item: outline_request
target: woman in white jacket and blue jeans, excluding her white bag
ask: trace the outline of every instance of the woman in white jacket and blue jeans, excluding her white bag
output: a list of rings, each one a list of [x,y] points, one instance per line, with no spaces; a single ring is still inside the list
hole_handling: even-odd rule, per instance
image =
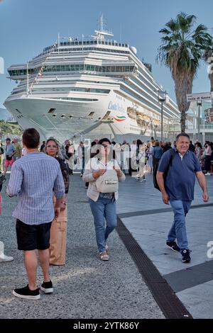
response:
[[[94,216],[94,227],[101,260],[108,261],[107,238],[116,227],[116,200],[118,192],[101,193],[97,189],[96,181],[99,176],[104,175],[109,170],[115,170],[119,181],[126,179],[119,164],[113,158],[113,149],[109,139],[99,140],[97,144],[97,154],[87,162],[83,181],[89,182],[87,196]],[[107,226],[105,226],[105,219]]]

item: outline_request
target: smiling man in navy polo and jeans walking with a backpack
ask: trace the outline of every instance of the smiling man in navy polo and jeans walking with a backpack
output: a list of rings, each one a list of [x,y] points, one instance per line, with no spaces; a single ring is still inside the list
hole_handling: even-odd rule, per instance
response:
[[[173,251],[181,252],[182,262],[189,263],[191,257],[185,216],[190,210],[192,200],[194,200],[195,176],[202,188],[204,202],[209,200],[209,195],[200,162],[195,154],[189,150],[189,135],[180,133],[177,136],[176,145],[173,154],[168,150],[161,157],[156,179],[162,193],[163,203],[166,205],[170,203],[174,212],[174,222],[168,233],[166,245]],[[163,176],[165,173],[167,173],[166,179]],[[175,239],[177,239],[178,244]]]

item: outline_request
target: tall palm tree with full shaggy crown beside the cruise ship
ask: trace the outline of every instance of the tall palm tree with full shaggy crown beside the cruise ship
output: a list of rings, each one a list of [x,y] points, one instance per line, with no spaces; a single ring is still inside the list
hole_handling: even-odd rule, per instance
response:
[[[194,28],[196,19],[195,15],[181,12],[159,31],[163,34],[160,38],[163,43],[158,48],[157,61],[170,68],[175,81],[181,132],[185,132],[186,112],[190,107],[186,95],[192,93],[192,81],[212,41],[206,26],[200,24]]]

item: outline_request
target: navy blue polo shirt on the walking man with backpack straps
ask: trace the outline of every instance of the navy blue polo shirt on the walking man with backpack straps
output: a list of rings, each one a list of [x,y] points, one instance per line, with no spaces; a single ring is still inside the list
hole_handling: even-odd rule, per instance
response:
[[[170,150],[161,157],[158,171],[165,172],[169,162]],[[195,154],[188,150],[181,159],[178,150],[175,149],[173,164],[165,179],[165,191],[168,193],[170,201],[194,200],[195,173],[197,171],[201,171],[201,166]]]

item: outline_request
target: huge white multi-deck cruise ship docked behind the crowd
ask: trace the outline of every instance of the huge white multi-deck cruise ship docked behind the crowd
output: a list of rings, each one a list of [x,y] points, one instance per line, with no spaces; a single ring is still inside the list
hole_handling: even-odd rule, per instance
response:
[[[61,38],[26,64],[9,67],[17,86],[4,102],[23,129],[60,142],[77,135],[160,137],[162,91],[136,47],[113,40],[103,17],[93,36]],[[179,118],[163,103],[163,126]]]

